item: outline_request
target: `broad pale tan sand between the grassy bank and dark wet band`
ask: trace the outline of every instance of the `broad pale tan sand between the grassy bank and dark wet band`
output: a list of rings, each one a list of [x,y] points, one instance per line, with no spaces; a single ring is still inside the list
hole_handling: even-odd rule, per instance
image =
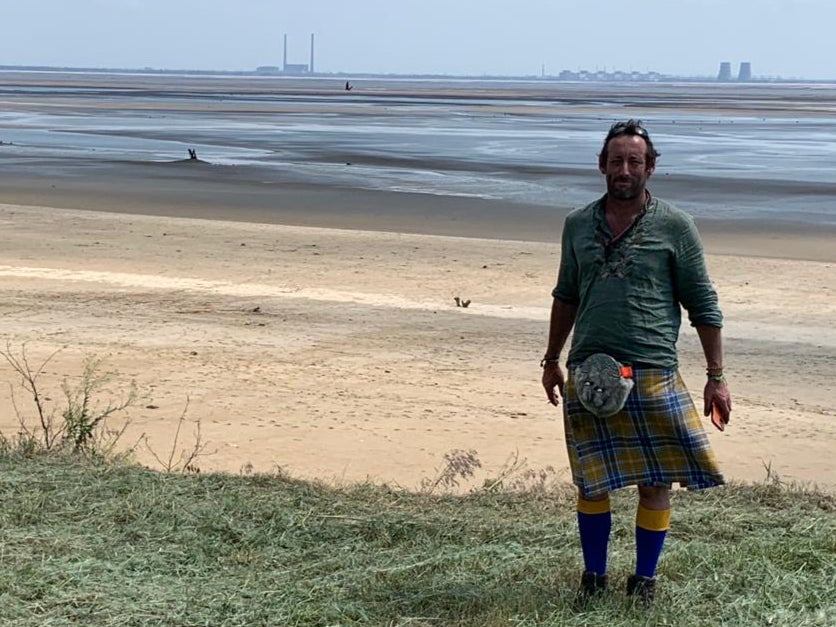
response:
[[[161,211],[151,192],[147,205],[132,196],[128,210],[106,193],[69,203],[45,194],[43,206],[6,193],[0,312],[8,350],[25,345],[33,365],[54,354],[38,382],[47,406],[60,413],[62,382],[76,385],[94,355],[114,373],[101,405],[132,380],[141,390],[110,426],[126,424],[120,445],[151,467],[160,467],[153,453],[168,458],[185,412],[175,459],[199,421],[202,472],[281,468],[415,489],[462,449],[482,463],[469,485],[510,456],[568,480],[560,410],[546,402],[538,367],[557,237],[503,239],[508,231],[490,236],[490,222],[481,238],[460,237],[443,220],[435,232],[414,216],[402,231],[396,222],[380,230],[375,216],[393,201],[385,194],[377,205],[341,190],[288,194],[346,211],[315,214],[329,228],[266,224],[257,208],[227,208],[249,221]],[[734,399],[726,432],[706,426],[727,477],[760,481],[769,468],[836,489],[832,239],[801,227],[704,227]],[[680,352],[699,398],[703,359],[687,327]],[[20,417],[34,424],[4,362],[0,380],[9,384],[0,429],[13,433]]]

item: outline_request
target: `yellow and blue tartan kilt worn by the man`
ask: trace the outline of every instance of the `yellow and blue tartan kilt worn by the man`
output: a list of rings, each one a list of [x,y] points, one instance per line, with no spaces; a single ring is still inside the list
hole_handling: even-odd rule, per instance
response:
[[[703,489],[725,483],[685,382],[675,369],[633,369],[620,412],[598,418],[581,405],[568,368],[563,424],[572,480],[586,496],[628,485]]]

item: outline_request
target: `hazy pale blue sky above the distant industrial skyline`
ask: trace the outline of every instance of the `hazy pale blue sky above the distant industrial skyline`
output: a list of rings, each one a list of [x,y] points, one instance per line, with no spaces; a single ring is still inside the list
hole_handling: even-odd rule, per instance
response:
[[[0,65],[836,78],[834,0],[0,0]]]

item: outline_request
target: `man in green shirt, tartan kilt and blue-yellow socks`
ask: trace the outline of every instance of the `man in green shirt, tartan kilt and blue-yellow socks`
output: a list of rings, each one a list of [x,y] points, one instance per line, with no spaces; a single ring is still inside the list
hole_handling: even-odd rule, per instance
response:
[[[693,220],[646,189],[658,156],[640,121],[610,128],[598,158],[607,193],[567,216],[552,292],[543,387],[553,405],[555,388],[565,401],[566,445],[578,486],[584,603],[607,586],[611,491],[638,486],[636,570],[627,593],[649,604],[670,523],[671,484],[701,489],[723,483],[676,354],[681,305],[705,354],[704,412],[714,411],[722,429],[731,412],[723,378],[723,318]],[[561,353],[573,327],[566,378]],[[613,358],[619,376],[633,385],[623,407],[608,417],[590,411],[580,393],[589,390],[575,386],[576,374],[583,372],[578,365],[601,353]],[[595,390],[606,393],[604,388]]]

